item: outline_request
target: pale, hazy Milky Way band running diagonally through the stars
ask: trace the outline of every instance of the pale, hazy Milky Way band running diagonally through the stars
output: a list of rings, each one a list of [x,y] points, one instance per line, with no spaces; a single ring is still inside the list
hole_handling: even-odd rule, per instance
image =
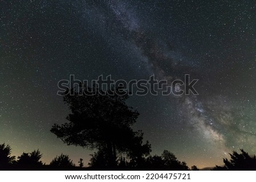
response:
[[[180,77],[184,73],[200,78],[200,84],[216,82],[221,79],[214,78],[214,80],[211,80],[212,78],[209,78],[205,80],[205,75],[200,75],[201,68],[198,69],[198,67],[185,62],[188,58],[176,56],[179,54],[168,47],[168,40],[158,40],[147,35],[143,28],[139,26],[138,18],[131,14],[128,5],[120,4],[110,5],[110,7],[117,20],[131,34],[131,41],[134,46],[141,50],[141,54],[146,58],[152,73],[157,75],[159,79],[167,79],[171,82],[174,79],[181,79]],[[206,84],[205,87],[209,87],[208,92],[210,92],[210,86]],[[253,118],[243,117],[242,111],[233,107],[232,103],[226,103],[225,97],[226,95],[221,95],[220,92],[213,92],[210,96],[202,97],[183,96],[183,98],[179,98],[177,108],[180,109],[185,122],[188,122],[188,126],[192,126],[195,130],[195,134],[201,135],[203,140],[209,143],[211,150],[226,154],[234,148],[237,149],[238,146],[240,148],[245,147],[243,146],[244,142],[250,143],[255,149]],[[249,124],[248,122],[251,128],[246,127]],[[229,142],[230,140],[232,140],[232,143]]]

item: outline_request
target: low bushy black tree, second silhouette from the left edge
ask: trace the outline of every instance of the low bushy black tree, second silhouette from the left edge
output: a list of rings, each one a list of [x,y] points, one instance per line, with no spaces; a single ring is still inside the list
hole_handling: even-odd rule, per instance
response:
[[[34,150],[31,153],[22,153],[22,155],[18,156],[17,164],[24,169],[42,167],[43,163],[40,161],[42,155],[39,150]]]

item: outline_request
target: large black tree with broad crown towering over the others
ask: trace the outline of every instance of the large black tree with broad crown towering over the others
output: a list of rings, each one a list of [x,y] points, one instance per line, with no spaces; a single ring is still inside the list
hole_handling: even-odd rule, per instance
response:
[[[107,92],[95,86],[81,87],[72,88],[73,94],[65,93],[64,102],[71,109],[69,122],[53,125],[52,133],[67,145],[97,149],[106,167],[117,165],[118,153],[134,160],[150,153],[150,144],[142,143],[143,133],[131,128],[139,113],[126,105],[126,92],[119,87]]]

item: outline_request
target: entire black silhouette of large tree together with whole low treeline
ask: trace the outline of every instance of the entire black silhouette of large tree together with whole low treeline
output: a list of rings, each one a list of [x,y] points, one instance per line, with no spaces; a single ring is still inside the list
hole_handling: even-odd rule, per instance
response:
[[[199,170],[196,166],[189,168],[168,150],[162,155],[150,154],[151,145],[143,142],[142,130],[132,128],[139,113],[126,105],[129,94],[122,87],[103,91],[96,86],[79,85],[67,90],[63,98],[71,110],[68,122],[54,124],[51,132],[67,145],[94,150],[88,166],[84,166],[83,159],[76,166],[62,153],[45,164],[40,160],[43,154],[39,149],[16,158],[11,155],[11,147],[2,143],[0,170]],[[250,156],[244,150],[241,154],[233,151],[230,160],[223,161],[223,166],[212,170],[256,170],[255,155]]]

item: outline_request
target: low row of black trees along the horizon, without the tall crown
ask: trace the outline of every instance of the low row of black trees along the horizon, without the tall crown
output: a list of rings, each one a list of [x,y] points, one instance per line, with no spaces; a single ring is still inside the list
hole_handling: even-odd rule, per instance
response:
[[[11,147],[5,143],[0,145],[0,170],[199,170],[196,166],[189,168],[187,163],[180,162],[176,156],[168,150],[164,150],[162,155],[147,156],[135,162],[120,156],[114,168],[109,168],[108,161],[104,153],[94,153],[84,167],[83,159],[79,160],[79,165],[69,158],[68,155],[61,154],[52,159],[49,164],[43,163],[42,154],[39,150],[31,153],[22,153],[17,158],[11,155]],[[223,159],[224,166],[216,166],[212,170],[256,170],[256,157],[250,156],[244,150],[238,154],[233,151],[230,160]]]

